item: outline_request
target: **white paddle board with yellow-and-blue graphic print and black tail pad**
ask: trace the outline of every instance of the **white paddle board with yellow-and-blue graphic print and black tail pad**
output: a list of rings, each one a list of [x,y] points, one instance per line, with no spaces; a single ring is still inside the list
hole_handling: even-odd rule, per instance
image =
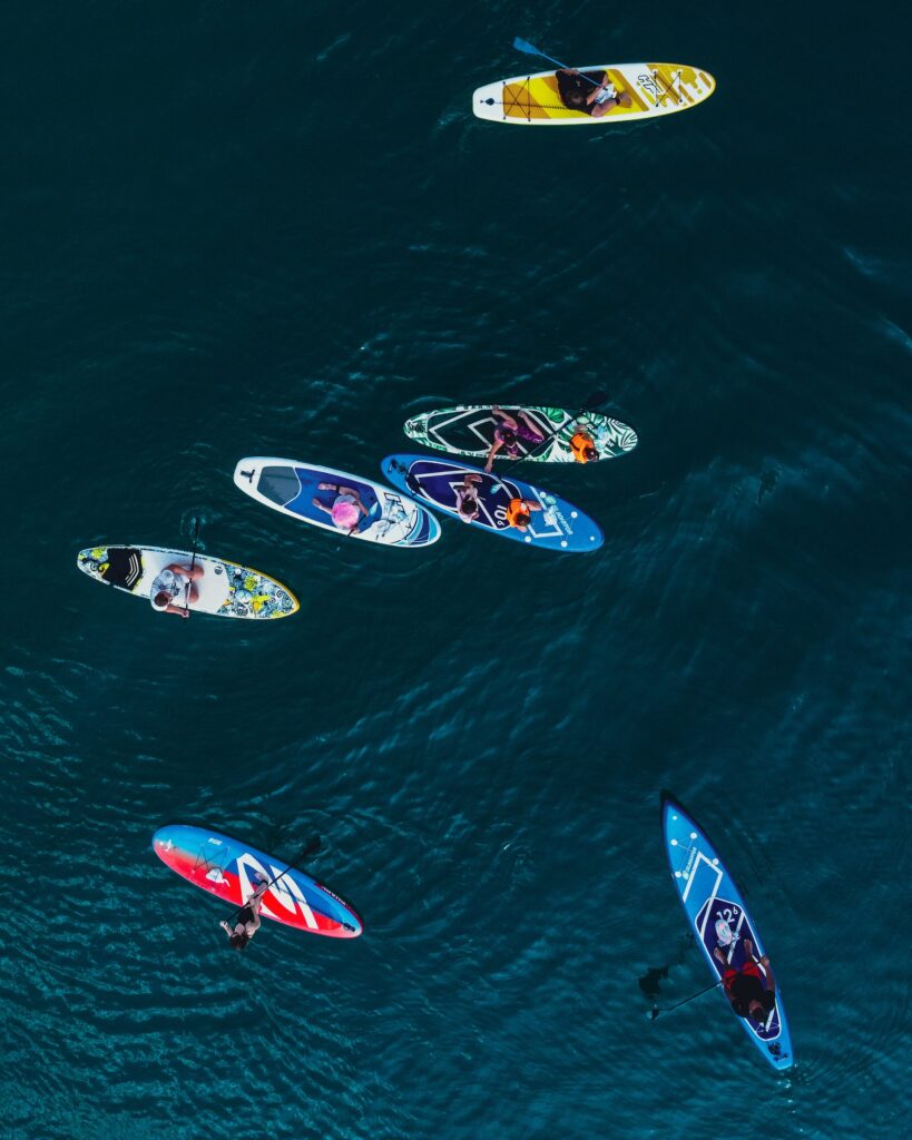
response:
[[[188,551],[171,551],[163,546],[92,546],[80,551],[76,565],[96,581],[148,600],[152,584],[165,567],[189,568]],[[236,562],[196,555],[203,576],[195,581],[199,597],[189,603],[192,612],[214,613],[220,618],[287,618],[298,612],[298,598],[275,578],[250,570]],[[178,595],[176,605],[184,605]]]

